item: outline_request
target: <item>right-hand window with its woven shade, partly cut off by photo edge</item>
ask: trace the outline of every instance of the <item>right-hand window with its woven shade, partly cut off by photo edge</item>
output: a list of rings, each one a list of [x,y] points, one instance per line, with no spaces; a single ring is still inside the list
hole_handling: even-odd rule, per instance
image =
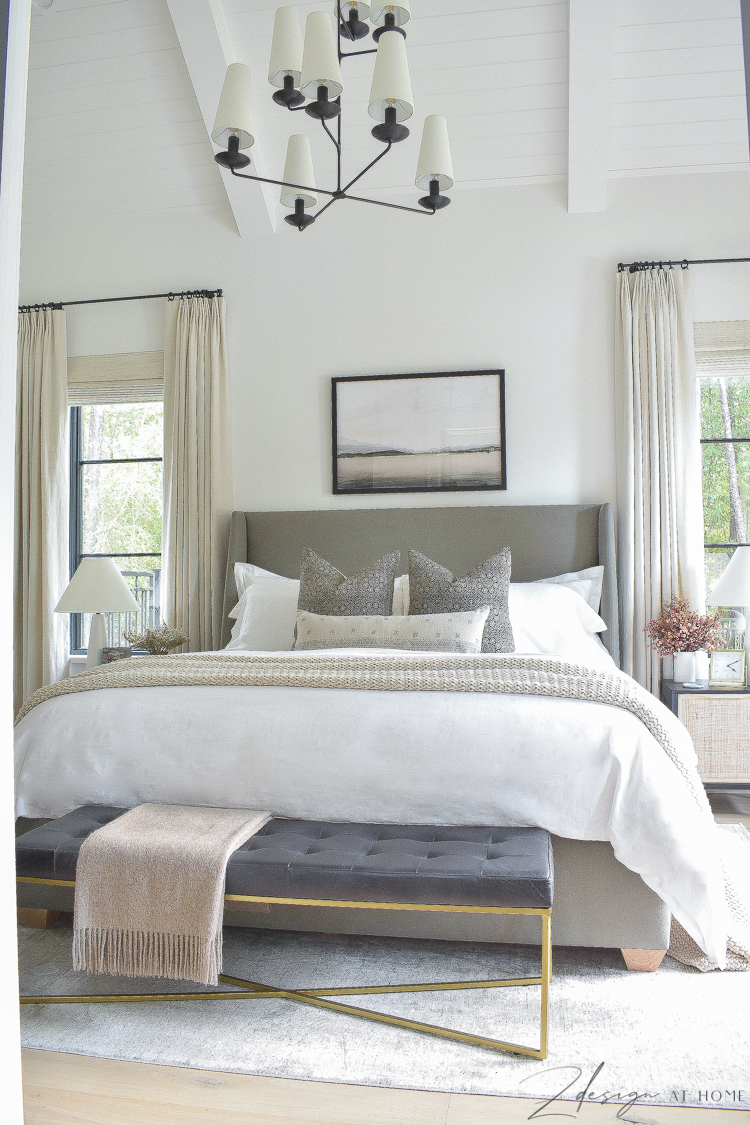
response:
[[[750,322],[695,325],[706,590],[750,542]]]

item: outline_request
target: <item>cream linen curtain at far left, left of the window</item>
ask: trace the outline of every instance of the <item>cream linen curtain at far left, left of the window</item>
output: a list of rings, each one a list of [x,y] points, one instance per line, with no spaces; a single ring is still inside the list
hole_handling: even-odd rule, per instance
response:
[[[70,579],[65,313],[18,318],[16,429],[15,705],[65,672],[66,613],[55,613]]]

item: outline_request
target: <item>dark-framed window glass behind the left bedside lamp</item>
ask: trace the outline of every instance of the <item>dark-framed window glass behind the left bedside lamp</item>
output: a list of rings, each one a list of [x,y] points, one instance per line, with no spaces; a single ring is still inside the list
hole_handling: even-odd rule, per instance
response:
[[[161,402],[71,407],[71,575],[82,558],[114,558],[137,613],[107,615],[109,645],[157,624],[162,554]],[[71,651],[88,644],[90,614],[71,614]]]

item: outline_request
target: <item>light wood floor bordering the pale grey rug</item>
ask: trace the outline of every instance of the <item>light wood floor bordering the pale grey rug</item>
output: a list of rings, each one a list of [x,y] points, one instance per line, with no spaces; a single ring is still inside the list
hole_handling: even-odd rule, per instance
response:
[[[750,796],[712,796],[720,824],[750,829]],[[744,1091],[746,1104],[750,1089]],[[26,1125],[521,1125],[540,1107],[495,1098],[370,1086],[299,1082],[253,1074],[116,1062],[24,1051]],[[750,1125],[747,1109],[551,1105],[542,1115],[580,1125]]]

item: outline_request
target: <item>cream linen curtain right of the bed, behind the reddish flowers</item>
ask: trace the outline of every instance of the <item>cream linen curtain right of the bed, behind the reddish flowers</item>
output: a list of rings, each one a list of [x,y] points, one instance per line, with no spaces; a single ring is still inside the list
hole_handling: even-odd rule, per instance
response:
[[[705,606],[701,420],[687,270],[617,274],[622,667],[654,693],[643,627],[671,597]]]

